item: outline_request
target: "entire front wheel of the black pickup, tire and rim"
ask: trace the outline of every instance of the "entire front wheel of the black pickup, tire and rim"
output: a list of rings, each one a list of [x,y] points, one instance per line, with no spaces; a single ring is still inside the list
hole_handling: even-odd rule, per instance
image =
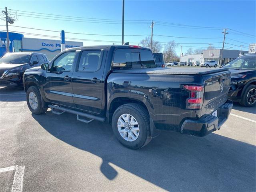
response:
[[[33,114],[43,114],[47,111],[47,108],[43,108],[41,101],[41,94],[37,86],[31,86],[26,92],[26,100],[29,110]]]

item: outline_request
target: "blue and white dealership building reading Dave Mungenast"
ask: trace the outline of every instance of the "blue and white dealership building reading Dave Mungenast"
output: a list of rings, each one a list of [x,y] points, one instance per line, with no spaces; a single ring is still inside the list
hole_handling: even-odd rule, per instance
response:
[[[6,53],[6,32],[0,31],[0,56]],[[24,38],[23,34],[9,32],[10,52],[39,52],[52,60],[60,53],[61,40]],[[65,48],[80,47],[83,42],[65,41]]]

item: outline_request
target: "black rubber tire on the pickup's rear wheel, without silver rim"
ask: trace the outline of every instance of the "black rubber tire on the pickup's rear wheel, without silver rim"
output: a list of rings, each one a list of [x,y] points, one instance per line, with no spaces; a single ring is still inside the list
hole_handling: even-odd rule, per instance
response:
[[[132,115],[138,122],[139,135],[134,141],[125,140],[118,131],[118,119],[123,114]],[[139,104],[129,103],[124,104],[116,109],[112,117],[112,129],[117,140],[124,146],[130,149],[139,149],[146,146],[152,139],[150,135],[150,123],[146,109]]]

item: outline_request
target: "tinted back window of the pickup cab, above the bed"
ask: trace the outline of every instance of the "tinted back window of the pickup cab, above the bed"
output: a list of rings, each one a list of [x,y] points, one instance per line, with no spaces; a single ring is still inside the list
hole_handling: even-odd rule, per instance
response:
[[[112,63],[113,70],[154,67],[156,64],[152,52],[138,49],[117,49]]]

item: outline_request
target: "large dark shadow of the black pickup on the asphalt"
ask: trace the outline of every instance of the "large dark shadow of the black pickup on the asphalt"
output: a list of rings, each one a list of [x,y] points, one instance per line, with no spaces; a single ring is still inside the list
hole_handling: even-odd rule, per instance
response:
[[[109,180],[118,175],[115,164],[168,191],[256,190],[251,144],[218,134],[198,138],[162,132],[144,148],[130,150],[119,144],[108,124],[83,124],[75,115],[50,111],[32,116],[54,137],[102,158],[100,170]]]

